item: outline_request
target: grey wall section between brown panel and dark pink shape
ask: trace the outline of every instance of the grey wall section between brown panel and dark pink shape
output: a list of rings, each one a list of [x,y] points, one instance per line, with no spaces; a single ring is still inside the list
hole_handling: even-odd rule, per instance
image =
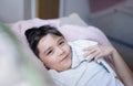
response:
[[[89,0],[60,0],[60,17],[76,12],[86,23],[89,23]]]

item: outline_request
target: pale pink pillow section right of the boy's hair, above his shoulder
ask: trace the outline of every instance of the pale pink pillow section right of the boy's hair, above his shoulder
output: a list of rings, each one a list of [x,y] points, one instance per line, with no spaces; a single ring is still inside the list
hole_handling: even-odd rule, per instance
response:
[[[68,41],[88,39],[88,40],[96,41],[101,44],[110,44],[104,33],[98,28],[92,25],[79,26],[79,25],[63,24],[60,25],[58,29],[62,34],[64,34]]]

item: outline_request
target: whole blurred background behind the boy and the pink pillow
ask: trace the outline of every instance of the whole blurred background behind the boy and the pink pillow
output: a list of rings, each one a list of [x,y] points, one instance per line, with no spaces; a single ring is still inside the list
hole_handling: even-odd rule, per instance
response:
[[[0,0],[0,18],[6,23],[73,12],[102,30],[133,71],[133,0]]]

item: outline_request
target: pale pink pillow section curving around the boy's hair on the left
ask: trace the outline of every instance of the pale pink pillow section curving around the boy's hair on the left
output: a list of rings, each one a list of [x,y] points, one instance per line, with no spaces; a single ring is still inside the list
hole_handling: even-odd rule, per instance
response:
[[[41,20],[41,19],[32,19],[32,20],[23,20],[23,21],[18,21],[16,23],[10,24],[11,30],[13,31],[13,33],[17,35],[17,37],[19,39],[19,41],[24,44],[28,45],[24,32],[25,30],[33,28],[33,26],[41,26],[44,24],[50,24],[53,26],[58,26],[60,25],[60,21],[58,19],[54,20]]]

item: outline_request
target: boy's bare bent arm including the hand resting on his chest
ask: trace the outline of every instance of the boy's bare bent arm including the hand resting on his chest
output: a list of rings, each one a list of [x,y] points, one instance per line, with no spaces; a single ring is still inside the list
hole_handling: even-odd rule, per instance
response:
[[[84,51],[84,56],[89,61],[96,61],[101,57],[106,57],[111,55],[114,71],[116,72],[119,78],[124,83],[125,86],[133,86],[133,74],[131,69],[112,45],[94,45],[85,47]]]

